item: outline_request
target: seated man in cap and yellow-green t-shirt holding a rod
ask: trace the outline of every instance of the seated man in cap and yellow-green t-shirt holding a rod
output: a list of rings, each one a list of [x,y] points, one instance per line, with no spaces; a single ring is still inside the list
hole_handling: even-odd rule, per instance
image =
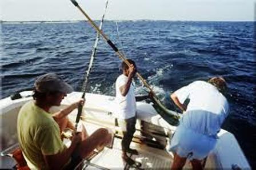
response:
[[[66,148],[61,129],[70,126],[66,116],[84,101],[79,100],[52,115],[50,108],[60,106],[72,91],[71,86],[56,74],[39,76],[34,85],[34,101],[21,108],[17,123],[19,145],[30,169],[73,169],[95,148],[111,142],[107,129],[100,128],[88,137],[83,127],[82,133],[73,134],[71,145]]]

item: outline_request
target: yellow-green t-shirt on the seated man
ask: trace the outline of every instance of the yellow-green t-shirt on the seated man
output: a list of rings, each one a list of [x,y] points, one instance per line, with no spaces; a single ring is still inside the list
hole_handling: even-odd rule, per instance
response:
[[[43,155],[55,155],[66,148],[58,124],[34,101],[19,111],[17,132],[23,154],[38,169],[47,169]]]

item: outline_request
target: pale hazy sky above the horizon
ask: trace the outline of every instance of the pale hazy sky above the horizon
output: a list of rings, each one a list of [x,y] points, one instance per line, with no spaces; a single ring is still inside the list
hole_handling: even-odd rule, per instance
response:
[[[77,0],[93,19],[106,0]],[[108,20],[255,21],[256,0],[109,0]],[[2,21],[67,21],[85,17],[69,0],[0,0]]]

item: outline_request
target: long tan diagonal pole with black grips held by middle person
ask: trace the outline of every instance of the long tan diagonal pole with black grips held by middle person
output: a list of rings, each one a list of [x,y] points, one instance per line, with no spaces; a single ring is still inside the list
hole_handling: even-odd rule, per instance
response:
[[[120,59],[122,59],[127,66],[131,66],[131,64],[127,61],[126,57],[122,54],[122,52],[120,52],[118,50],[118,48],[115,46],[115,44],[113,42],[110,41],[110,39],[107,37],[106,34],[103,33],[103,31],[101,29],[99,29],[99,27],[95,24],[95,22],[89,17],[89,15],[87,15],[85,13],[85,11],[78,5],[77,1],[75,0],[70,0],[73,5],[75,7],[77,7],[79,9],[79,11],[81,11],[81,13],[83,15],[85,15],[85,17],[88,19],[88,22],[90,23],[90,25],[98,32],[98,34],[101,34],[103,39],[109,44],[109,46],[115,51],[115,53],[119,56]],[[152,99],[153,99],[153,103],[156,104],[157,106],[159,106],[160,110],[159,111],[163,111],[165,113],[163,113],[162,111],[158,114],[160,114],[162,116],[162,118],[164,118],[168,123],[173,124],[173,125],[177,125],[178,123],[178,119],[179,119],[179,115],[177,112],[174,111],[170,111],[168,110],[165,106],[163,106],[163,104],[160,102],[160,100],[157,98],[157,96],[155,95],[153,89],[149,86],[149,84],[146,82],[145,79],[142,78],[142,76],[136,72],[137,76],[139,79],[141,79],[142,83],[144,84],[145,87],[147,87],[150,92],[152,93]],[[170,116],[171,118],[174,118],[175,120],[170,120],[168,118],[168,116]]]

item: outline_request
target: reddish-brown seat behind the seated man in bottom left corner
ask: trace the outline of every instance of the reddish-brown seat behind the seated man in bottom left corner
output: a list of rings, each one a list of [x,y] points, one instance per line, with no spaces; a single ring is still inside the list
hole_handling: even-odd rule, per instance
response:
[[[14,168],[19,170],[29,170],[30,168],[27,166],[27,162],[22,155],[22,151],[19,148],[18,144],[14,144],[11,147],[5,149],[5,151],[1,152],[1,156],[8,156],[15,160],[17,163]]]

